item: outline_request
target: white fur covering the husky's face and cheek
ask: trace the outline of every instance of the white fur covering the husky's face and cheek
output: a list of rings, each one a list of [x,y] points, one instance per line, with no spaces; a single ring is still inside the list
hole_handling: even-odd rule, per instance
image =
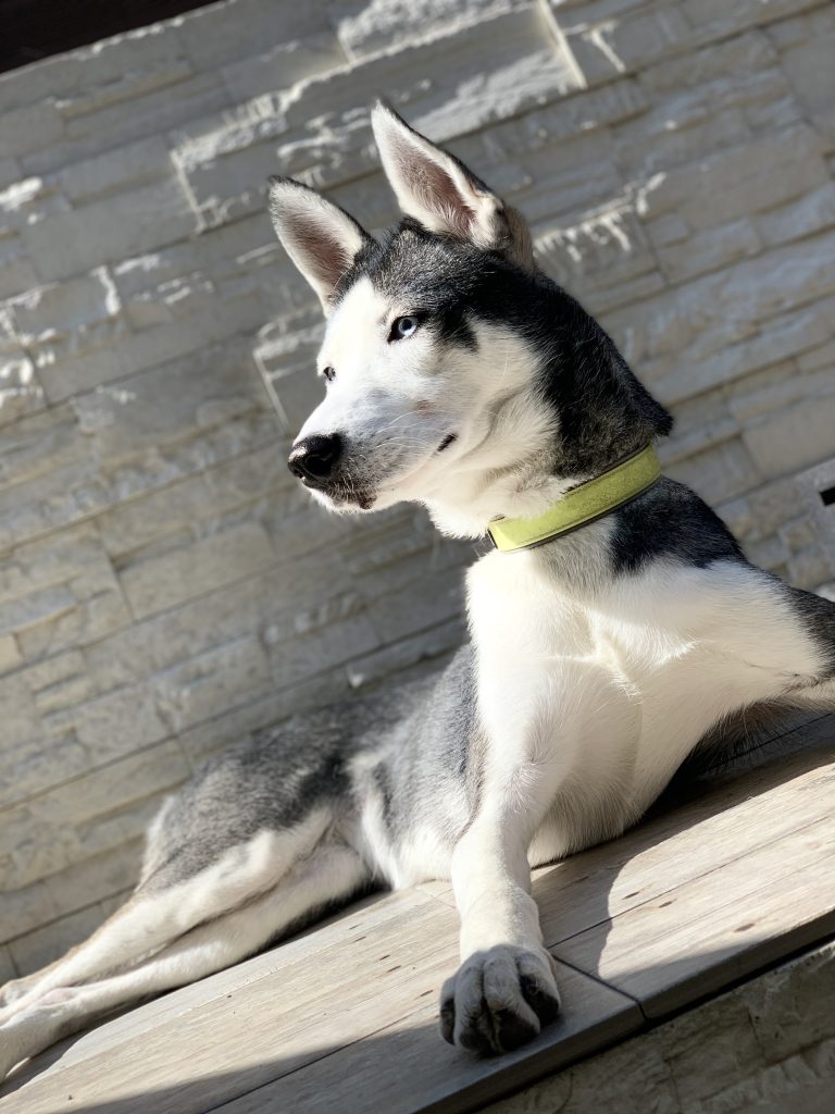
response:
[[[446,532],[472,537],[511,506],[536,514],[569,481],[541,473],[558,418],[532,382],[530,344],[488,321],[472,323],[472,348],[431,326],[390,343],[391,322],[414,309],[360,278],[331,317],[320,362],[335,378],[298,439],[337,431],[348,456],[335,489],[314,496],[335,509],[424,502]]]

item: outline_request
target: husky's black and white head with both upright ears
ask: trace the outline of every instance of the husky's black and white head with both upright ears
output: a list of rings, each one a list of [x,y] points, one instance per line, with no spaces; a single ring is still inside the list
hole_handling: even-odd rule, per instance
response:
[[[289,467],[332,509],[416,500],[450,531],[478,534],[505,512],[494,500],[473,506],[495,480],[512,494],[539,482],[531,461],[540,478],[569,477],[608,451],[599,420],[578,427],[569,348],[586,346],[581,364],[600,348],[642,389],[593,320],[537,271],[515,211],[386,106],[372,124],[405,214],[383,242],[315,190],[271,182],[278,237],[327,322],[325,398]]]

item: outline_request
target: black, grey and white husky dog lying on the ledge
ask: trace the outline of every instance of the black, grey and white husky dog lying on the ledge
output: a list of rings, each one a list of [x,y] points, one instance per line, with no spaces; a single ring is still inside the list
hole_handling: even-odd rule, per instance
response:
[[[518,213],[386,106],[373,126],[404,213],[382,242],[271,184],[327,319],[325,398],[289,467],[332,510],[412,500],[444,534],[524,532],[671,419],[537,268]],[[740,710],[832,704],[835,606],[749,565],[664,477],[534,540],[470,569],[472,642],[440,680],[299,716],[170,798],[124,908],[7,987],[0,1073],[371,883],[432,878],[452,880],[461,917],[443,1036],[491,1053],[539,1033],[559,995],[531,866],[633,824]]]

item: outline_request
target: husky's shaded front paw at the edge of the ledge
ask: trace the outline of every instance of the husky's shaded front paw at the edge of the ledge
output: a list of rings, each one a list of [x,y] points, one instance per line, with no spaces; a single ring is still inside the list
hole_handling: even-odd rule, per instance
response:
[[[483,1056],[512,1052],[559,1010],[553,961],[544,948],[500,945],[470,956],[444,983],[441,1035]]]

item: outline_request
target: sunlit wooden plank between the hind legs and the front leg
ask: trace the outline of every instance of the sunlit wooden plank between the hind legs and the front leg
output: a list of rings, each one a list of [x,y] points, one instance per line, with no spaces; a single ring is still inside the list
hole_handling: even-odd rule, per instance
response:
[[[424,901],[374,928],[357,924],[343,946],[289,961],[276,949],[275,969],[237,993],[213,994],[136,1038],[36,1076],[18,1092],[27,1114],[53,1114],[67,1094],[76,1108],[199,1114],[434,1005],[456,962],[458,922],[452,909]],[[151,1079],[153,1102],[140,1107]]]

